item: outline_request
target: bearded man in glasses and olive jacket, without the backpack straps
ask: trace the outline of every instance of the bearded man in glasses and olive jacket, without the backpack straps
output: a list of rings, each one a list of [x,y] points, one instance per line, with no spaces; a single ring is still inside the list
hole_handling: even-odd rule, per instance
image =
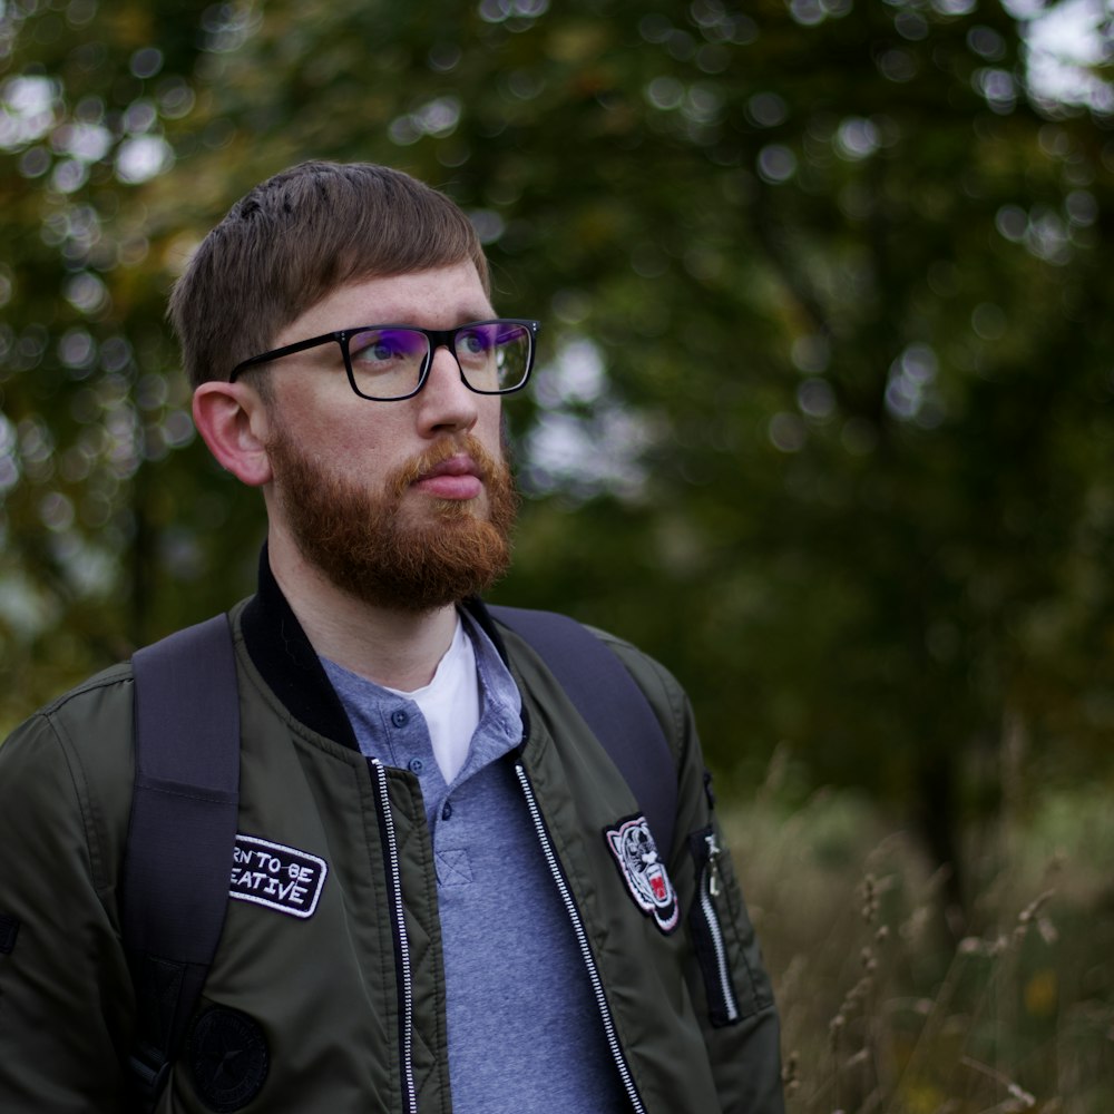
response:
[[[538,326],[496,317],[468,219],[383,167],[296,166],[208,235],[172,317],[197,428],[262,489],[268,535],[231,613],[232,900],[158,1108],[780,1111],[776,1016],[684,694],[607,639],[675,759],[658,850],[568,694],[479,602],[515,511],[500,395]],[[131,709],[119,666],[0,747],[6,1114],[124,1102]],[[267,871],[291,864],[284,897]]]

